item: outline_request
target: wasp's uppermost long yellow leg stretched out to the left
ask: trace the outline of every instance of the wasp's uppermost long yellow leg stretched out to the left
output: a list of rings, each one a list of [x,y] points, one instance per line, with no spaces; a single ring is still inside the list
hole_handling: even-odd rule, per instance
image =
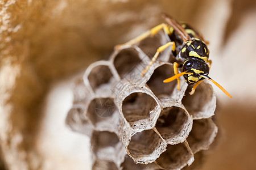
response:
[[[168,35],[171,34],[170,29],[168,28],[168,26],[166,24],[164,24],[164,23],[159,24],[159,25],[155,26],[154,28],[150,29],[150,31],[144,32],[142,35],[139,35],[138,37],[135,37],[134,39],[131,39],[130,41],[126,42],[125,44],[115,45],[115,49],[121,48],[121,46],[124,46],[124,45],[134,45],[137,42],[140,42],[143,39],[146,39],[146,37],[148,37],[150,35],[154,36],[161,29],[164,29],[164,31],[166,31],[168,33]]]

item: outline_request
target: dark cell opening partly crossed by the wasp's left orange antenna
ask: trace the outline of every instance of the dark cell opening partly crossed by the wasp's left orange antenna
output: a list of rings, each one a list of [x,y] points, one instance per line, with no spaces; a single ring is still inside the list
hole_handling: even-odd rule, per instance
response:
[[[177,81],[172,81],[170,83],[164,83],[163,80],[170,78],[174,75],[174,67],[168,64],[159,66],[154,70],[150,79],[147,82],[150,90],[158,97],[159,95],[171,95],[175,90]]]

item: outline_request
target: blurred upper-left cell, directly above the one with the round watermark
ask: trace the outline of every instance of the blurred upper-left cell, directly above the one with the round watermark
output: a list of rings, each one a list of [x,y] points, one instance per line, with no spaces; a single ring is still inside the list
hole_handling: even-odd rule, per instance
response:
[[[86,77],[86,76],[85,76]],[[108,65],[96,65],[88,74],[90,87],[94,92],[110,91],[112,84],[115,83],[115,78]]]

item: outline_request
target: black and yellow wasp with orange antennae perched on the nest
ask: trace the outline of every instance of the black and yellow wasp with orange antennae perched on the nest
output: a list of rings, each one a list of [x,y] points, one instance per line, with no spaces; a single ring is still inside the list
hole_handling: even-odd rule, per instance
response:
[[[177,79],[177,89],[180,90],[180,76],[183,76],[188,85],[194,85],[192,91],[189,93],[190,95],[193,95],[196,87],[199,86],[204,79],[208,79],[220,88],[220,90],[222,90],[227,96],[232,98],[232,96],[222,86],[220,86],[220,84],[208,76],[212,61],[209,60],[209,50],[207,48],[208,42],[204,41],[203,36],[187,24],[179,24],[174,18],[167,14],[162,14],[162,16],[164,20],[166,20],[167,24],[159,24],[125,44],[115,46],[115,48],[119,48],[119,46],[123,45],[133,45],[148,36],[154,36],[160,30],[164,29],[171,41],[157,49],[151,62],[148,64],[146,69],[142,71],[142,76],[147,73],[148,69],[152,63],[156,61],[159,54],[168,46],[171,46],[172,54],[174,54],[175,59],[177,60],[177,62],[174,62],[175,75],[163,80],[164,83],[172,82]],[[179,73],[178,68],[182,68],[181,73]]]

